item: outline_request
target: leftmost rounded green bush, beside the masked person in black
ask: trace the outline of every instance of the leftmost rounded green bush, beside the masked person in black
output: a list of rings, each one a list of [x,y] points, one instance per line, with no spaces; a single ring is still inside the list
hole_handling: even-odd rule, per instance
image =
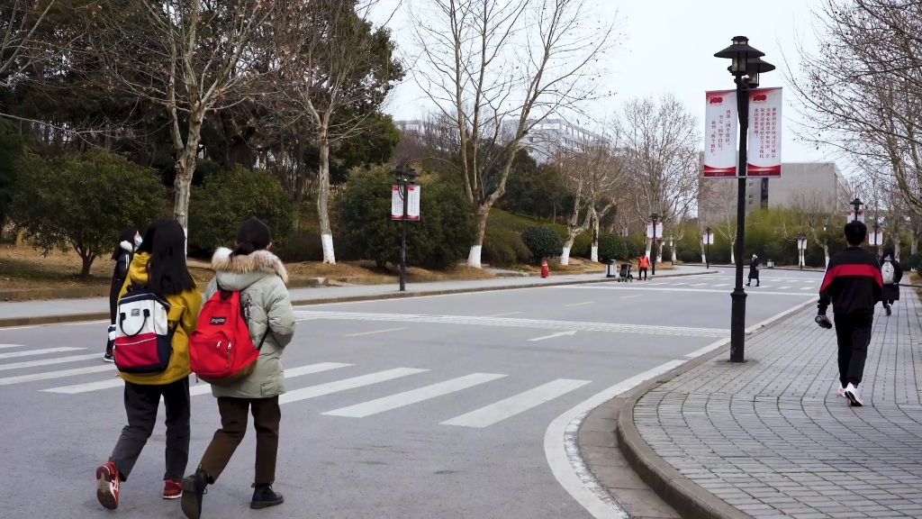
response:
[[[10,215],[45,252],[73,248],[89,275],[119,232],[143,229],[163,214],[165,189],[157,173],[107,151],[45,159],[26,152],[18,161]]]

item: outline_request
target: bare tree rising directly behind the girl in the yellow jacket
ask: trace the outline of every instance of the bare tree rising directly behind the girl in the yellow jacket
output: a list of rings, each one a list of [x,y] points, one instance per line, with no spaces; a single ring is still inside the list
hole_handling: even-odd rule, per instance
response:
[[[88,7],[89,46],[74,49],[98,66],[103,91],[159,105],[176,156],[173,218],[188,227],[189,195],[208,114],[258,95],[268,64],[287,49],[270,43],[285,30],[283,1],[116,0]]]

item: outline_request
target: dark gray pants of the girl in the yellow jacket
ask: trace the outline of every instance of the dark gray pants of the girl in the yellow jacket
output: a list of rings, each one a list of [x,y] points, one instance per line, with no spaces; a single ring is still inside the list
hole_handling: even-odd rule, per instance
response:
[[[124,383],[124,411],[128,425],[115,443],[109,461],[115,464],[124,481],[135,467],[137,457],[157,423],[160,396],[167,411],[166,465],[163,479],[182,481],[189,463],[189,378],[164,385]]]

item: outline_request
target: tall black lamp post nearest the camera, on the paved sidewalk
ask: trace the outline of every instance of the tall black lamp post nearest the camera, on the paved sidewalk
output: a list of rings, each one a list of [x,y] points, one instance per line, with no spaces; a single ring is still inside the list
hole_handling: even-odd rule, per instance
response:
[[[737,166],[737,272],[736,285],[730,294],[730,361],[744,362],[746,347],[746,291],[743,290],[743,238],[746,229],[746,138],[749,130],[749,91],[759,86],[759,75],[774,70],[774,65],[762,61],[762,51],[750,46],[749,38],[737,36],[733,44],[714,54],[730,59],[727,67],[737,84],[739,111],[739,165]]]

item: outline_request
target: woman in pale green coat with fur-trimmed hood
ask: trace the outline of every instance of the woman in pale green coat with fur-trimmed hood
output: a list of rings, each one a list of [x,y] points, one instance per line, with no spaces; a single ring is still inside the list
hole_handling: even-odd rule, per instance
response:
[[[205,296],[219,290],[240,292],[241,311],[253,344],[262,343],[253,372],[231,385],[212,384],[218,398],[221,428],[208,444],[195,474],[183,479],[183,513],[198,519],[202,495],[231,461],[246,434],[247,412],[253,413],[256,429],[256,468],[250,508],[281,504],[282,495],[272,489],[276,479],[278,395],[285,392],[280,356],[294,335],[294,311],[285,284],[285,265],[269,252],[272,238],[265,223],[252,218],[237,232],[236,249],[219,248],[211,259],[215,278]]]

